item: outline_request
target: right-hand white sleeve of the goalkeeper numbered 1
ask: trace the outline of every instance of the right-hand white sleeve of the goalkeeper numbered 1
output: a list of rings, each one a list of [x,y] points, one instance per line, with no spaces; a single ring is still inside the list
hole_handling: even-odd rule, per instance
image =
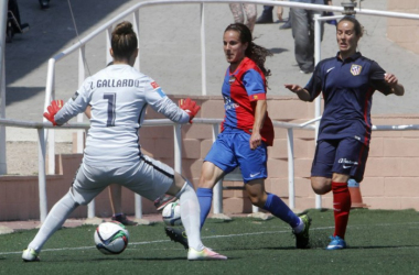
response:
[[[186,123],[190,116],[179,108],[151,78],[144,84],[146,101],[151,108],[171,121]]]

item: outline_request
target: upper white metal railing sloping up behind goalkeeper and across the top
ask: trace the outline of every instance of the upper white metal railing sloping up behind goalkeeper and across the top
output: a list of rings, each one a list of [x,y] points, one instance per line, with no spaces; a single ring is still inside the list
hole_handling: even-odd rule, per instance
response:
[[[111,61],[111,56],[108,52],[108,48],[110,48],[110,34],[112,31],[112,26],[115,23],[119,22],[120,20],[132,15],[132,24],[135,28],[135,31],[139,34],[140,33],[140,14],[139,11],[142,8],[150,7],[150,6],[161,6],[161,4],[185,4],[185,3],[198,3],[201,6],[201,75],[202,75],[202,95],[206,95],[206,50],[205,50],[205,4],[208,3],[230,3],[230,2],[237,2],[235,0],[154,0],[154,1],[144,1],[137,3],[132,6],[130,9],[126,10],[125,12],[121,12],[117,16],[115,16],[112,20],[108,21],[107,23],[100,25],[95,31],[93,31],[90,34],[88,34],[86,37],[78,41],[78,43],[74,44],[73,46],[66,48],[62,53],[53,56],[49,61],[49,67],[47,67],[47,77],[46,77],[46,90],[45,90],[45,101],[44,101],[44,109],[50,105],[51,100],[55,98],[55,63],[60,62],[64,57],[68,56],[71,53],[74,53],[78,51],[78,85],[82,85],[86,77],[85,67],[86,67],[86,61],[85,61],[85,46],[86,44],[92,41],[94,37],[96,37],[100,33],[106,33],[106,62],[109,63]],[[280,7],[288,7],[288,8],[300,8],[300,9],[308,9],[308,10],[318,10],[318,11],[329,11],[329,12],[339,12],[342,13],[345,11],[344,7],[335,7],[335,6],[322,6],[322,4],[309,4],[309,3],[300,3],[300,2],[289,2],[289,1],[255,1],[255,0],[241,0],[240,2],[244,3],[257,3],[257,4],[266,4],[266,6],[280,6]],[[388,11],[376,11],[376,10],[368,10],[368,9],[359,9],[356,8],[354,11],[357,14],[369,14],[369,15],[382,15],[382,16],[393,16],[393,18],[404,18],[404,19],[416,19],[419,20],[418,14],[411,14],[411,13],[401,13],[401,12],[388,12]],[[320,37],[320,35],[318,35]],[[316,45],[316,50],[320,56],[320,44]],[[318,59],[319,61],[319,59]],[[137,69],[140,69],[140,55],[138,55],[135,67]],[[315,103],[315,117],[320,116],[320,101],[316,101]],[[46,120],[44,120],[46,122]],[[77,122],[83,122],[83,114],[79,114],[77,117]],[[54,134],[47,134],[45,135],[50,140],[51,145],[49,145],[49,155],[50,160],[53,160],[53,156],[55,154],[54,151]],[[83,152],[83,131],[77,132],[77,152]],[[50,162],[49,163],[49,169],[50,173],[54,173],[55,170],[55,163]]]

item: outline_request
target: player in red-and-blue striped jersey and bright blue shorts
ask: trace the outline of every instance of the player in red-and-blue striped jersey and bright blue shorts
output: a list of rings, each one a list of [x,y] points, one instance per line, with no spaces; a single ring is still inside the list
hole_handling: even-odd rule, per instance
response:
[[[253,42],[250,30],[235,23],[223,37],[229,67],[224,77],[225,119],[222,132],[202,165],[196,190],[201,206],[201,227],[210,212],[215,184],[240,167],[251,204],[289,223],[296,234],[297,248],[309,245],[310,218],[296,216],[276,195],[266,193],[267,146],[273,143],[273,125],[267,112],[267,81],[270,70],[265,61],[270,52]],[[186,238],[179,229],[166,228],[168,235],[186,248]]]

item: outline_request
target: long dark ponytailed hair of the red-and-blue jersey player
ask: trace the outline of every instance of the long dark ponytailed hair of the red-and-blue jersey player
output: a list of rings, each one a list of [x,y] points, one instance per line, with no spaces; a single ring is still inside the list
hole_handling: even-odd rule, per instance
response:
[[[247,25],[241,23],[229,24],[224,32],[236,31],[239,33],[240,42],[243,44],[248,43],[245,55],[258,65],[258,67],[264,73],[265,77],[270,76],[270,69],[265,67],[265,62],[267,56],[272,56],[272,53],[253,42],[251,32]]]

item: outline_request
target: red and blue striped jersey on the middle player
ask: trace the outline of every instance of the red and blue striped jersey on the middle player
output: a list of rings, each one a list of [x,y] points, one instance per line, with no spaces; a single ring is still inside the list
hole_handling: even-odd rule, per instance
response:
[[[224,97],[225,118],[222,131],[226,128],[240,129],[251,134],[255,123],[257,100],[265,100],[267,94],[266,78],[260,68],[245,57],[234,73],[227,68],[222,94]],[[273,125],[268,112],[260,130],[262,141],[273,144]]]

